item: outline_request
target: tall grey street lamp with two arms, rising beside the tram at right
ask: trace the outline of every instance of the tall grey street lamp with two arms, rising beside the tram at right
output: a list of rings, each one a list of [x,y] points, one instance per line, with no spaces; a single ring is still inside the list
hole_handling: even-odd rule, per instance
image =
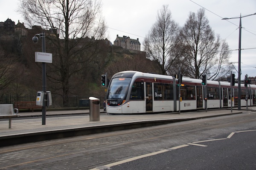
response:
[[[239,21],[239,47],[238,47],[238,110],[241,110],[241,29],[242,29],[242,24],[241,24],[241,18],[243,17],[248,17],[254,14],[249,14],[241,17],[232,17],[232,18],[222,18],[222,20],[229,20],[229,19],[235,19],[235,18],[240,18]]]

